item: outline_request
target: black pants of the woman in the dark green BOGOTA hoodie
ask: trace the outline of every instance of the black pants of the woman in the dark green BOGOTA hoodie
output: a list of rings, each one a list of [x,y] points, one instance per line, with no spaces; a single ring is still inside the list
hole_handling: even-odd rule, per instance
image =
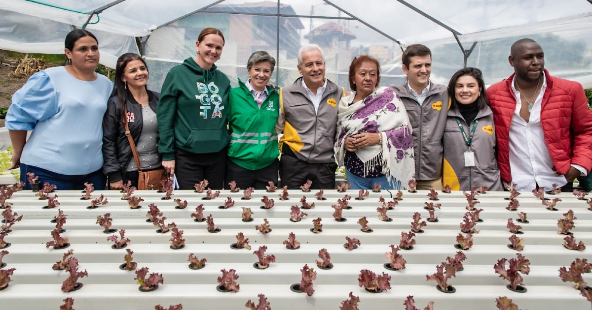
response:
[[[177,149],[175,152],[175,176],[181,190],[192,190],[196,183],[208,180],[212,190],[224,188],[226,154],[228,148],[219,152],[195,154]]]

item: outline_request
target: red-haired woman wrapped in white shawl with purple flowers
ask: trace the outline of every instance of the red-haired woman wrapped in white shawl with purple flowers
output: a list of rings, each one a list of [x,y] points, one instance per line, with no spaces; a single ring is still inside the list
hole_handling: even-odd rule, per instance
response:
[[[414,178],[413,136],[405,106],[390,87],[378,87],[380,65],[358,56],[349,67],[352,94],[342,97],[335,152],[355,189],[401,190]]]

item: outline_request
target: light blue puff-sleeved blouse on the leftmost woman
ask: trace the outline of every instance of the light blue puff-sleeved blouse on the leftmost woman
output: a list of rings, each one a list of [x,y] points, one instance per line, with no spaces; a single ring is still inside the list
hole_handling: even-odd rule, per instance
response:
[[[33,130],[21,162],[65,175],[101,169],[102,119],[112,87],[101,74],[82,81],[65,67],[33,74],[12,96],[5,123],[8,130]]]

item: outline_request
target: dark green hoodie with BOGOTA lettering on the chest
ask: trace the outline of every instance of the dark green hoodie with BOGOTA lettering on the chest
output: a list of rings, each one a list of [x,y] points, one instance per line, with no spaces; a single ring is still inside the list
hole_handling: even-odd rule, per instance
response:
[[[230,80],[202,69],[193,58],[170,69],[157,105],[158,151],[165,161],[179,148],[195,154],[221,151],[230,142],[226,129]]]

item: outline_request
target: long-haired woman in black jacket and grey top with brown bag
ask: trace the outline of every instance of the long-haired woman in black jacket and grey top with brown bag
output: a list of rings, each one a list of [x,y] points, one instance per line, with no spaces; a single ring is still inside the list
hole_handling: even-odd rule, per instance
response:
[[[140,55],[126,53],[117,59],[115,89],[103,118],[103,172],[112,190],[127,181],[137,187],[138,169],[126,136],[127,122],[143,171],[159,169],[156,103],[159,94],[147,89],[148,68]],[[127,111],[127,113],[126,113]]]

